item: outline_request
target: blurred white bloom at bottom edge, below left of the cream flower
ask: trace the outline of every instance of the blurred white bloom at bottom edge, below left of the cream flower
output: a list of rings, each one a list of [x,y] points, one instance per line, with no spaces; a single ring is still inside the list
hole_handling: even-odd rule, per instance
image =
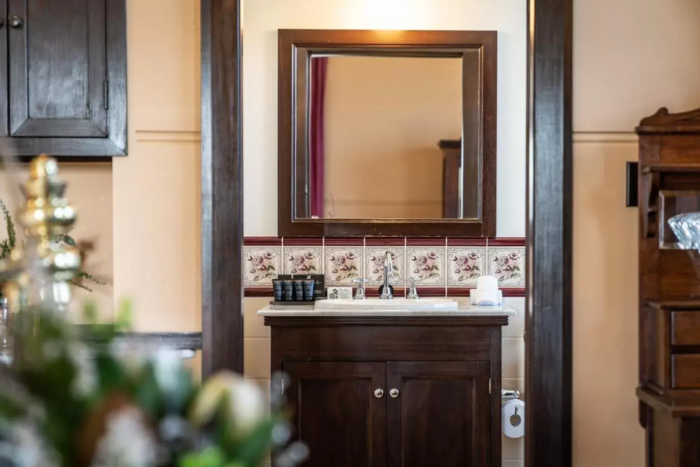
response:
[[[97,443],[93,467],[148,467],[155,465],[158,445],[146,429],[141,412],[125,407],[110,415],[107,430]]]

